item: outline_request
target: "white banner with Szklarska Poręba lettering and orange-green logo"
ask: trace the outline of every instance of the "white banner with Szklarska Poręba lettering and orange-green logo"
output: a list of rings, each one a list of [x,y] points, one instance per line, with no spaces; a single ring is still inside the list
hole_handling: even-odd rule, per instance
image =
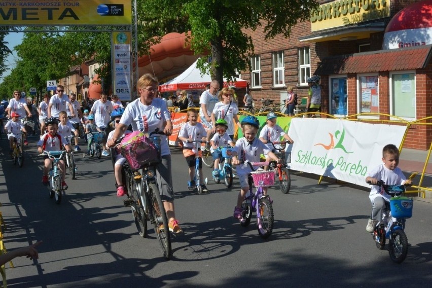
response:
[[[368,171],[382,163],[382,148],[400,147],[406,126],[341,119],[293,118],[291,169],[369,187]]]

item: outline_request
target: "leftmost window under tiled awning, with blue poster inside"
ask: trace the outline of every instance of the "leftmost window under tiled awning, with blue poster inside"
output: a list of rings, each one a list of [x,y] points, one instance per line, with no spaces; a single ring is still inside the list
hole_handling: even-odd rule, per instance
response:
[[[348,115],[346,83],[346,77],[330,77],[330,103],[333,115]]]

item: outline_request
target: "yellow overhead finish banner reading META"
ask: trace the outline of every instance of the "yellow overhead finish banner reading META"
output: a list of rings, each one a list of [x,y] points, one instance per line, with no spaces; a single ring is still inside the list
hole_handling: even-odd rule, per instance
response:
[[[131,25],[130,0],[8,0],[0,25]]]

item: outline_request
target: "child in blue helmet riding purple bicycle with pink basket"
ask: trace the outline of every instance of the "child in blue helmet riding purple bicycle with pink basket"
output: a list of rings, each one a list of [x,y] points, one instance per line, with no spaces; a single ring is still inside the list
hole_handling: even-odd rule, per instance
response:
[[[267,146],[264,145],[259,139],[256,138],[258,130],[260,129],[260,121],[255,116],[247,116],[241,121],[241,128],[244,137],[237,140],[235,148],[232,151],[233,165],[239,165],[241,161],[259,162],[260,155],[267,155],[269,158],[280,163],[281,160],[273,153]],[[237,174],[240,180],[240,192],[237,197],[237,205],[234,207],[234,217],[241,218],[241,203],[249,191],[248,175],[252,172],[249,166],[237,166]],[[267,190],[264,189],[264,194]]]

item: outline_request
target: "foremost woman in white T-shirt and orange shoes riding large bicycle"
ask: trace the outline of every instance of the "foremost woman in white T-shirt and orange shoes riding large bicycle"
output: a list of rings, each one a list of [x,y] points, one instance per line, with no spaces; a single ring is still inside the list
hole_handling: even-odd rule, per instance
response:
[[[151,74],[144,74],[136,85],[139,98],[126,106],[125,112],[117,125],[113,137],[107,142],[108,147],[114,147],[117,139],[124,134],[127,127],[132,125],[133,131],[153,132],[156,128],[164,131],[165,135],[172,133],[171,114],[165,102],[157,98],[158,79]],[[178,226],[174,213],[174,193],[172,190],[171,152],[165,135],[161,135],[162,162],[157,166],[157,180],[164,203],[168,226],[171,232],[183,233]]]

